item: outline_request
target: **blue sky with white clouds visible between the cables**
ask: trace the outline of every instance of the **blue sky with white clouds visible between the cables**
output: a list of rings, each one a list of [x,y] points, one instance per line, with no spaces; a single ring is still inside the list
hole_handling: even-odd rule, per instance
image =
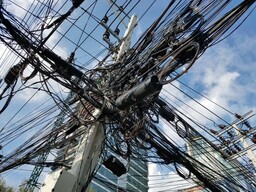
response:
[[[22,0],[16,1],[17,3],[24,3]],[[32,1],[26,1],[23,6],[28,6]],[[106,2],[105,2],[106,3]],[[153,21],[158,13],[165,6],[167,1],[161,2],[156,7],[154,7],[147,16],[143,18],[143,20],[138,24],[137,29],[135,30],[134,36],[135,39],[138,37],[145,28]],[[11,6],[11,3],[10,5]],[[104,4],[102,4],[104,6]],[[14,6],[15,7],[15,6]],[[17,11],[16,8],[12,8],[13,13],[22,16],[23,13]],[[142,9],[143,6],[140,7]],[[138,10],[141,11],[141,10]],[[76,14],[76,13],[74,13]],[[101,14],[99,12],[99,14]],[[193,65],[193,67],[189,70],[187,74],[181,77],[179,80],[185,82],[189,86],[193,87],[197,91],[200,91],[202,94],[220,104],[221,106],[227,108],[232,112],[237,112],[243,114],[249,110],[255,110],[256,108],[256,12],[254,11],[252,15],[243,23],[243,25],[236,30],[229,38],[222,41],[220,44],[209,48],[206,53]],[[127,22],[127,21],[126,21]],[[68,24],[64,24],[60,27],[60,31],[64,30]],[[98,35],[98,34],[96,34]],[[70,37],[77,38],[74,34],[69,34]],[[58,41],[60,35],[58,33],[54,34],[47,45],[49,47],[53,47]],[[72,47],[73,46],[73,47]],[[84,45],[85,47],[88,45]],[[74,48],[74,45],[69,43],[68,41],[61,41],[57,47],[54,49],[55,52],[60,54],[63,58],[66,58],[69,53]],[[103,47],[94,46],[89,47],[90,49],[94,49],[96,51],[101,50]],[[0,50],[3,51],[4,47],[0,44]],[[92,51],[93,52],[93,51]],[[82,55],[82,52],[77,55],[77,62],[85,63],[85,61],[89,60],[89,57]],[[3,66],[3,61],[1,60],[1,66]],[[1,71],[1,68],[0,68]],[[29,71],[29,70],[28,70]],[[1,74],[1,73],[0,73]],[[39,78],[34,79],[37,81]],[[55,82],[51,82],[52,86],[55,90],[63,90],[67,92],[63,87],[60,87]],[[174,82],[177,87],[182,88],[182,85],[179,82]],[[186,102],[189,106],[203,113],[207,114],[211,119],[216,121],[217,123],[221,123],[220,120],[213,116],[212,114],[208,114],[208,112],[204,111],[200,108],[196,103],[186,98],[181,92],[175,89],[171,85],[166,85],[165,89],[172,92],[176,97],[180,98],[182,101]],[[29,96],[34,93],[34,90],[27,89],[22,91],[21,93],[15,96],[15,99],[11,103],[10,107],[5,111],[5,113],[0,115],[0,125],[3,126],[10,119],[12,115],[15,114],[17,109],[24,104]],[[65,97],[66,93],[63,94]],[[197,100],[203,105],[207,106],[207,108],[211,109],[219,116],[229,120],[232,120],[233,117],[217,107],[216,105],[210,103],[206,99],[195,96]],[[35,106],[40,106],[43,101],[47,99],[47,94],[44,92],[40,92],[36,94],[35,97],[30,101],[30,105],[26,106],[24,110],[19,113],[13,122],[17,119],[22,118],[24,113],[29,113],[33,111]],[[172,103],[179,104],[180,107],[186,111],[188,111],[191,115],[193,115],[196,119],[200,120],[200,122],[206,124],[207,126],[214,126],[212,122],[203,118],[201,115],[194,113],[191,109],[188,109],[183,103],[179,103],[177,99],[171,98]],[[254,120],[254,122],[256,122]],[[28,138],[31,133],[24,134],[22,137],[17,139],[16,142],[12,143],[8,146],[7,149],[3,150],[3,153],[7,153],[10,151],[15,145],[17,145],[22,140]],[[30,169],[31,167],[24,167],[22,169]],[[149,172],[151,175],[161,175],[162,171],[155,165],[150,165]],[[17,186],[18,183],[27,178],[30,175],[29,171],[10,171],[4,173],[2,176],[6,179],[8,184],[12,186]],[[159,176],[163,179],[170,179],[170,176]],[[153,177],[152,177],[153,178]],[[154,181],[151,181],[154,182]],[[152,189],[151,191],[155,191],[156,189]]]

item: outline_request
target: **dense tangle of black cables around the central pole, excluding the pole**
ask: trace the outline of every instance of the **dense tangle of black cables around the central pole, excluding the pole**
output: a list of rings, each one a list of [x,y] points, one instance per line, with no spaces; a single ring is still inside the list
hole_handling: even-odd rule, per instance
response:
[[[27,52],[31,49],[35,52],[32,54],[32,61],[30,60],[34,71],[31,75],[23,77],[23,70],[28,66],[26,63],[21,67],[19,75],[24,81],[27,81],[33,78],[37,72],[42,73],[74,91],[79,98],[85,100],[85,103],[88,102],[91,108],[101,109],[102,115],[99,120],[103,122],[106,134],[112,136],[107,140],[107,145],[117,154],[126,158],[130,156],[149,157],[148,161],[160,164],[175,163],[175,160],[171,159],[172,157],[166,156],[166,153],[178,157],[179,149],[163,139],[164,135],[157,131],[158,127],[155,124],[159,123],[160,117],[167,118],[168,123],[182,139],[189,137],[189,126],[175,114],[171,117],[166,115],[172,113],[170,109],[164,109],[166,104],[159,101],[162,85],[185,74],[205,49],[211,46],[211,43],[215,43],[216,39],[237,20],[236,14],[241,15],[245,12],[253,1],[244,1],[221,17],[218,13],[229,1],[176,2],[178,3],[170,2],[163,14],[118,62],[113,61],[109,66],[99,66],[82,73],[75,67],[71,67],[71,62],[65,62],[52,50],[43,46],[41,37],[38,46],[30,45],[27,48]],[[70,12],[67,12],[59,17],[53,22],[53,25],[59,25],[69,14]],[[219,18],[216,21],[214,18],[217,16]],[[1,17],[0,19],[6,22],[6,19]],[[222,24],[225,24],[225,27]],[[13,30],[14,28],[9,27],[9,29]],[[13,34],[20,40],[19,33],[14,32]],[[21,42],[22,46],[29,44],[30,41],[27,40],[25,44],[24,42],[25,40]],[[50,67],[47,68],[41,62],[42,60],[48,62]],[[85,87],[80,86],[78,81],[73,81],[74,76],[82,80]],[[146,89],[143,90],[145,87]],[[93,117],[89,108],[86,105],[82,107],[84,113],[88,114],[87,116]],[[83,123],[89,126],[93,121],[87,122],[87,116],[79,117],[79,120],[84,120]],[[67,125],[67,127],[70,126]],[[71,134],[72,131],[78,131],[79,135],[84,133],[84,130],[78,130],[77,126],[74,124],[73,129],[67,129],[65,133],[61,130],[63,127],[49,131],[50,136],[58,136],[51,147],[59,147],[65,143],[67,141],[64,137],[65,134]],[[47,138],[48,136],[45,136],[41,139],[46,141]],[[71,141],[73,137],[69,139]],[[149,156],[145,151],[151,149],[153,150],[150,154],[152,156]],[[29,148],[25,148],[25,150],[29,150]],[[40,150],[43,151],[43,148]],[[33,157],[39,154],[40,150],[38,148]],[[145,153],[142,154],[141,151]],[[189,162],[183,162],[180,159],[175,165],[178,173],[180,170],[178,164],[180,163],[190,168]],[[180,173],[180,175],[182,174]],[[184,177],[188,178],[189,176],[190,173]]]

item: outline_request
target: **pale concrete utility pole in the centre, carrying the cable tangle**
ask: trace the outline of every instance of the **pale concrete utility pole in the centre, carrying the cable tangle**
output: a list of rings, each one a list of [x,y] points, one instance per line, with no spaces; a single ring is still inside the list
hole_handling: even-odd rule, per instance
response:
[[[137,25],[137,16],[133,15],[130,19],[123,42],[119,48],[116,60],[125,54],[130,48],[131,36]],[[97,119],[100,111],[94,108],[93,117]],[[71,169],[59,168],[49,173],[41,187],[41,192],[77,192],[85,191],[90,183],[90,176],[93,173],[104,144],[104,130],[99,122],[94,122],[89,128],[80,127],[79,129],[88,129],[78,144],[77,151],[74,153],[75,159]]]

